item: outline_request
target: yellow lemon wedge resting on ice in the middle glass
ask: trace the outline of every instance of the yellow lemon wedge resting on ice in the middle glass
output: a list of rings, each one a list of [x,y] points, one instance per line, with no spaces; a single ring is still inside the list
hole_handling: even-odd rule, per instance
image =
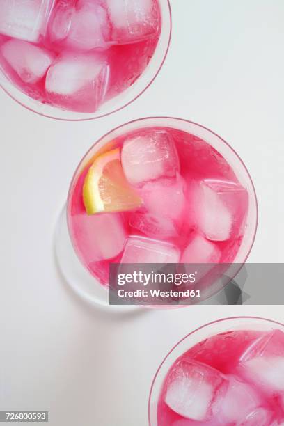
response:
[[[125,212],[141,206],[141,198],[123,173],[119,148],[100,155],[90,166],[84,181],[83,200],[87,214]]]

